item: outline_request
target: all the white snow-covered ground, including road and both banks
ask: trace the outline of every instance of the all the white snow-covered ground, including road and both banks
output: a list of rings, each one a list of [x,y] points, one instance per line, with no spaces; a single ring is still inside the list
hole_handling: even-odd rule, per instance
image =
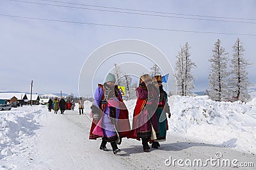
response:
[[[135,102],[125,102],[130,117]],[[0,111],[0,169],[255,169],[256,99],[216,103],[207,96],[172,96],[169,104],[169,131],[159,149],[145,153],[141,141],[125,138],[116,155],[109,144],[104,152],[100,139],[88,139],[88,101],[85,115],[78,104],[64,115],[46,106]]]

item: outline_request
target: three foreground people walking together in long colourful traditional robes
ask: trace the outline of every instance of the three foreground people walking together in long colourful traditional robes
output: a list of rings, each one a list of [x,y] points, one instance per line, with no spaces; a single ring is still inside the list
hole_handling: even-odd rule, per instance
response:
[[[171,117],[161,75],[151,77],[143,74],[140,77],[132,129],[128,110],[115,81],[115,75],[109,73],[104,84],[99,84],[95,91],[89,139],[102,138],[100,150],[104,151],[108,151],[106,144],[109,142],[113,153],[120,152],[117,144],[121,143],[122,138],[141,140],[144,152],[149,152],[148,143],[152,143],[152,148],[158,148],[159,141],[166,139],[166,113]]]

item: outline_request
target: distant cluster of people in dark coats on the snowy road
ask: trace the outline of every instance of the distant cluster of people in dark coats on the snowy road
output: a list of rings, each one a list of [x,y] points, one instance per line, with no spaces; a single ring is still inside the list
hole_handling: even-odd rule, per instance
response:
[[[58,113],[59,109],[61,114],[64,114],[65,110],[74,110],[76,104],[74,103],[74,101],[70,102],[68,100],[66,102],[64,97],[61,97],[60,101],[58,97],[55,97],[54,101],[52,101],[52,99],[49,99],[47,106],[48,106],[48,110],[52,111],[53,109],[55,114]]]

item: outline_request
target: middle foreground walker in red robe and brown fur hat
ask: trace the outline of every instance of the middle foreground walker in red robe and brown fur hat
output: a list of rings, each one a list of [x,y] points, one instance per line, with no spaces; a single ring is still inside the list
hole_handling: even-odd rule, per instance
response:
[[[152,131],[158,137],[158,124],[156,108],[159,101],[159,89],[152,85],[152,78],[149,74],[144,74],[140,78],[140,85],[136,89],[137,102],[134,108],[132,129],[134,136],[142,140],[144,152],[149,152],[148,141]]]

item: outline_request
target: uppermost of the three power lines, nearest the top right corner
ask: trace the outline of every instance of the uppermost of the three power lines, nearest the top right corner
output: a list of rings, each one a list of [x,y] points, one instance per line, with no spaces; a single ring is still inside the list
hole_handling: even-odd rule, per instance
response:
[[[97,8],[108,8],[108,9],[115,9],[115,10],[127,10],[127,11],[141,11],[141,12],[149,12],[149,13],[163,13],[163,14],[170,14],[170,15],[184,15],[184,16],[191,16],[191,17],[206,17],[206,18],[225,18],[225,19],[235,19],[235,20],[256,20],[256,18],[234,18],[234,17],[217,17],[217,16],[207,16],[207,15],[191,15],[191,14],[184,14],[184,13],[168,13],[162,11],[147,11],[147,10],[134,10],[129,8],[115,8],[109,6],[97,6],[97,5],[90,5],[90,4],[79,4],[79,3],[68,3],[63,1],[51,1],[51,0],[41,0],[53,3],[64,3],[64,4],[76,4],[81,6],[92,6]]]

